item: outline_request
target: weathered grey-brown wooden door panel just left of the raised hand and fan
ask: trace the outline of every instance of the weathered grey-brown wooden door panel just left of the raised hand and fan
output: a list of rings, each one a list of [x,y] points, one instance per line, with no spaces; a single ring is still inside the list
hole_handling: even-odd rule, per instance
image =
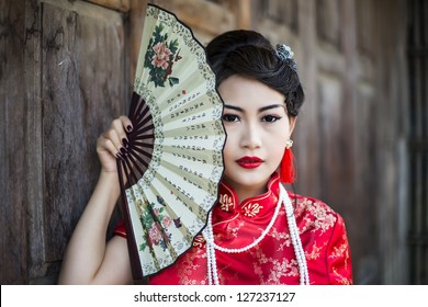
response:
[[[44,3],[42,16],[47,262],[61,259],[94,186],[98,136],[127,103],[121,16],[98,8],[93,18],[85,5],[64,4]]]

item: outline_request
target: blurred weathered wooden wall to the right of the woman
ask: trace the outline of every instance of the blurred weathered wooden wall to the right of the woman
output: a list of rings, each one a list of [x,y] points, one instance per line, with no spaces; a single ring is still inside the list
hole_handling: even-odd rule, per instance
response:
[[[358,284],[407,281],[404,2],[254,4],[251,26],[292,46],[306,93],[294,133],[296,192],[343,216]],[[270,18],[283,7],[293,18]]]

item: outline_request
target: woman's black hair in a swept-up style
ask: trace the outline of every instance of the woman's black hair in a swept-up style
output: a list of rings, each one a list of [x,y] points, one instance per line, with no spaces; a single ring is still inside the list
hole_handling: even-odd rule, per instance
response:
[[[235,30],[216,36],[206,46],[216,86],[233,75],[256,79],[285,96],[289,116],[297,116],[304,92],[290,60],[277,56],[271,43],[260,33]]]

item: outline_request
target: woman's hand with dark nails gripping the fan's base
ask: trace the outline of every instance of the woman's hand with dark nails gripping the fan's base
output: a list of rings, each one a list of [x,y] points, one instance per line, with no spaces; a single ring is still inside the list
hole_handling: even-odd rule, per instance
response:
[[[133,126],[128,117],[122,115],[114,120],[110,128],[101,134],[97,141],[97,154],[105,172],[116,172],[116,158],[126,152],[126,130],[132,132]]]

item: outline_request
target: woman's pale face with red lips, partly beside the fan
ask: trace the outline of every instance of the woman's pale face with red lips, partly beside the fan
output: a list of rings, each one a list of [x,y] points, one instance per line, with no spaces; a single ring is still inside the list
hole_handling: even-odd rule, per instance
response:
[[[225,180],[241,202],[266,191],[295,120],[289,120],[284,95],[257,80],[234,75],[218,92],[225,103]]]

